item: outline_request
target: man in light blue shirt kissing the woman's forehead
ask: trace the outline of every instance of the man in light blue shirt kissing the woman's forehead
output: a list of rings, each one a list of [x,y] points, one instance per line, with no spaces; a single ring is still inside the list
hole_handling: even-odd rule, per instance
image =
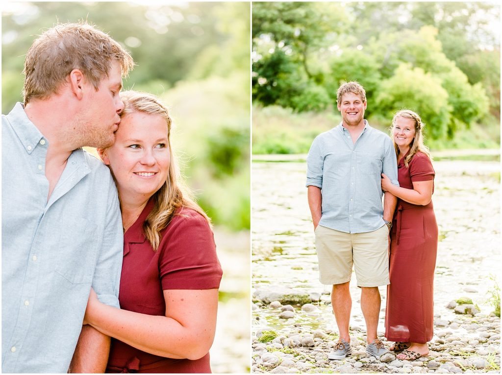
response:
[[[103,372],[109,337],[82,321],[90,288],[118,307],[122,225],[108,168],[131,55],[60,24],[25,59],[24,105],[2,115],[2,371]],[[79,337],[80,335],[80,337]]]

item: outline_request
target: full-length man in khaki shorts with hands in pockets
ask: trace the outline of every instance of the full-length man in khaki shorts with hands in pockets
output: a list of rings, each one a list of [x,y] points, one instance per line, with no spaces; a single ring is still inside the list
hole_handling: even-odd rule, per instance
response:
[[[376,337],[381,304],[378,287],[389,284],[389,231],[396,208],[396,198],[389,193],[382,208],[381,173],[398,185],[396,154],[391,139],[364,119],[366,93],[361,85],[341,85],[337,108],[342,122],[312,142],[306,183],[319,279],[332,285],[331,302],[340,333],[328,358],[351,354],[352,265],[361,288],[366,352],[380,358],[388,350]]]

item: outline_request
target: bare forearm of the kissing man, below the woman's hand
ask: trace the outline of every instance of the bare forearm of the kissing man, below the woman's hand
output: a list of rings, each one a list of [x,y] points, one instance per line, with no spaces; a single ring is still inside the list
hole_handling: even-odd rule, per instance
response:
[[[110,337],[83,325],[68,372],[104,373],[109,352]]]

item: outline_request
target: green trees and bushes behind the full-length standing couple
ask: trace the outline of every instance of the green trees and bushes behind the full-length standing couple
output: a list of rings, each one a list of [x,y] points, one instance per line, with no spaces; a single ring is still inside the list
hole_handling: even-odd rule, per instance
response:
[[[474,124],[500,121],[499,17],[479,2],[253,3],[254,116],[272,105],[336,111],[338,86],[358,81],[366,118],[388,125],[412,109],[432,143],[453,145]],[[254,152],[271,142],[255,141]]]

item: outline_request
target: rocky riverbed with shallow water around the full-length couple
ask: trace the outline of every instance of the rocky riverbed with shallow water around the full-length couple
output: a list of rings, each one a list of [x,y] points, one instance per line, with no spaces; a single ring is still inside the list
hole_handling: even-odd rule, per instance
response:
[[[500,372],[500,319],[489,300],[500,275],[500,166],[445,160],[434,167],[440,242],[429,355],[416,361],[366,356],[353,277],[353,354],[328,360],[338,337],[330,287],[318,281],[305,163],[253,163],[253,372]],[[383,336],[385,288],[381,294]]]

